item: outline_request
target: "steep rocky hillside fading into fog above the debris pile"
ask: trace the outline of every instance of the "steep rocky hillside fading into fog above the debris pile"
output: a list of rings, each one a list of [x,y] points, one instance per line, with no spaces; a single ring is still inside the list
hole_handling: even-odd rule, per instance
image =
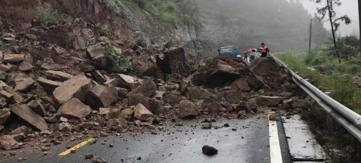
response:
[[[63,48],[78,48],[75,47],[76,42],[80,42],[82,49],[87,43],[96,43],[93,37],[100,29],[117,39],[138,42],[143,46],[163,48],[164,45],[180,44],[187,53],[203,49],[206,57],[216,56],[220,46],[234,45],[246,51],[257,48],[261,42],[266,42],[273,52],[304,50],[308,45],[308,19],[311,17],[302,5],[300,7],[300,4],[292,2],[195,1],[192,6],[195,12],[188,16],[196,17],[198,21],[186,25],[164,21],[149,13],[151,9],[140,8],[129,0],[1,0],[0,27],[6,22],[31,22],[44,16],[43,13],[47,13],[51,5],[67,14],[68,19],[65,20],[81,18],[88,24],[77,29],[62,30],[58,36],[61,36],[59,41]],[[57,24],[64,23],[58,21]],[[314,40],[322,42],[328,33],[322,24],[314,24],[317,35]]]

